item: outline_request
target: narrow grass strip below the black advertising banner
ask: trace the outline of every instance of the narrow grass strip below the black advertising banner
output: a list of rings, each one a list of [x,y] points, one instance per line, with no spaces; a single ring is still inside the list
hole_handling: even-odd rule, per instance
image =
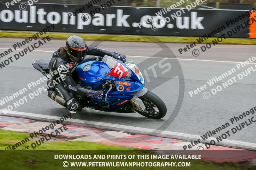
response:
[[[10,38],[28,38],[35,33],[24,33],[24,32],[0,32],[0,37]],[[47,33],[52,39],[67,39],[72,34],[62,33]],[[125,35],[89,35],[89,34],[76,34],[85,40],[91,41],[131,41],[131,42],[164,42],[164,43],[192,43],[196,41],[198,37],[168,37],[168,36],[125,36]],[[43,34],[41,37],[44,37]],[[212,42],[215,38],[209,38],[204,43]],[[197,41],[196,41],[197,42]],[[254,39],[235,39],[227,38],[220,42],[220,44],[249,44],[255,45],[256,40]]]

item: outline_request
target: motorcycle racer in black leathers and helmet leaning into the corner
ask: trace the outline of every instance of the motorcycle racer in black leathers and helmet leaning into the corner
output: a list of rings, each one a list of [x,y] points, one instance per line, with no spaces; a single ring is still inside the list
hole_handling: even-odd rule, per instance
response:
[[[66,46],[58,48],[53,53],[52,59],[49,63],[49,71],[52,72],[57,70],[59,73],[54,75],[50,82],[59,77],[61,77],[63,80],[54,87],[60,96],[65,100],[70,113],[76,113],[77,111],[81,110],[81,106],[76,99],[76,95],[98,99],[102,99],[104,95],[104,92],[101,90],[94,91],[77,85],[73,79],[73,77],[76,75],[74,72],[76,72],[75,70],[77,65],[84,60],[86,55],[95,55],[101,57],[104,55],[109,55],[122,61],[123,63],[126,62],[125,55],[113,51],[107,51],[96,46],[87,46],[84,39],[76,35],[68,37]]]

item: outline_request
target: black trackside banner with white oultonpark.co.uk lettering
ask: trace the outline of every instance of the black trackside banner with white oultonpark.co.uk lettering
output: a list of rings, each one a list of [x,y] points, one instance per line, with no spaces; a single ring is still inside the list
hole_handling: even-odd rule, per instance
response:
[[[246,11],[118,7],[111,6],[115,0],[109,2],[90,7],[34,3],[7,8],[1,4],[0,29],[40,31],[54,24],[55,32],[220,37],[240,26],[230,37],[248,38],[250,16]]]

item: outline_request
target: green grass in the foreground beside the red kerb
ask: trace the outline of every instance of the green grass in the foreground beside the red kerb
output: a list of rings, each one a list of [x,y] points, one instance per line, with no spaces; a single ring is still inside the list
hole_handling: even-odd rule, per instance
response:
[[[93,142],[83,142],[83,141],[61,141],[61,142],[46,142],[40,146],[37,146],[35,150],[21,150],[24,146],[30,145],[34,141],[29,141],[28,143],[18,147],[16,150],[4,150],[5,147],[8,145],[12,145],[21,141],[25,137],[29,137],[29,133],[21,133],[21,132],[13,132],[13,131],[6,131],[0,130],[0,169],[6,170],[27,170],[27,169],[54,169],[54,170],[63,170],[62,162],[66,159],[54,159],[54,155],[58,154],[152,154],[145,150],[135,149],[135,148],[125,148],[125,147],[118,147],[118,146],[110,146],[110,145],[103,145],[99,143]],[[4,150],[4,151],[3,151]],[[92,151],[94,150],[94,151]],[[128,159],[122,160],[99,160],[99,159],[76,159],[67,161],[77,161],[77,162],[99,162],[99,161],[124,161],[129,162]],[[150,160],[145,159],[134,159],[133,161],[136,162],[145,162]],[[167,161],[167,160],[152,160],[153,161]],[[178,160],[172,160],[178,162]],[[183,160],[180,160],[183,161]],[[256,166],[242,166],[238,163],[214,163],[211,161],[202,161],[202,160],[184,160],[185,162],[191,162],[191,167],[76,167],[72,169],[123,169],[123,170],[130,170],[130,169],[189,169],[189,170],[232,170],[232,169],[255,169]],[[65,169],[71,169],[65,168]]]

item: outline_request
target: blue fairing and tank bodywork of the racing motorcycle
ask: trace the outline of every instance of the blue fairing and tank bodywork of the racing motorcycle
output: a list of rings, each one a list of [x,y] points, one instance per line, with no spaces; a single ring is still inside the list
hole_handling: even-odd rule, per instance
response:
[[[102,61],[84,62],[79,64],[76,68],[79,81],[81,85],[84,87],[91,86],[93,90],[96,90],[96,88],[101,86],[102,83],[104,83],[106,80],[111,80],[114,82],[116,90],[111,90],[108,92],[107,101],[105,101],[105,98],[94,98],[92,99],[92,102],[98,103],[102,106],[110,104],[112,110],[117,112],[122,112],[121,110],[124,109],[124,105],[129,103],[129,100],[131,100],[134,97],[133,93],[142,90],[145,85],[145,82],[142,83],[140,77],[136,75],[137,73],[135,73],[129,67],[127,67],[126,64],[120,64],[122,64],[124,67],[131,71],[130,77],[125,76],[125,78],[119,78],[106,74],[111,72],[111,69],[108,67],[108,64]],[[118,89],[118,87],[122,88]]]

